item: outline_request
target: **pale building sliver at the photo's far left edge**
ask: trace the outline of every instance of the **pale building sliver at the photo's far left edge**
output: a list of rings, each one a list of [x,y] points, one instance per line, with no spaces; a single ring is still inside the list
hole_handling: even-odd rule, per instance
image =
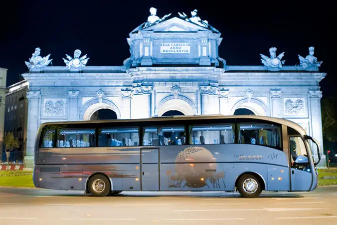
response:
[[[0,68],[0,162],[2,154],[2,138],[3,138],[3,126],[4,126],[4,108],[5,108],[5,94],[7,80],[7,69]]]

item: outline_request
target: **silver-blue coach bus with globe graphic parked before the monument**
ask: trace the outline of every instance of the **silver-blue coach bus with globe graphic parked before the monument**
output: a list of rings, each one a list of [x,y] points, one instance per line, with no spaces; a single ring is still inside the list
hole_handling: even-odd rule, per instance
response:
[[[318,159],[314,157],[317,151]],[[280,118],[200,115],[48,122],[36,135],[37,188],[122,191],[313,191],[320,144]]]

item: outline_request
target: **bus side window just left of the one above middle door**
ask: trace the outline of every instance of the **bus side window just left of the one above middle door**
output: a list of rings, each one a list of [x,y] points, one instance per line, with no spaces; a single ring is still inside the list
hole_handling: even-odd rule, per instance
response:
[[[114,127],[100,129],[99,146],[137,146],[138,127]]]

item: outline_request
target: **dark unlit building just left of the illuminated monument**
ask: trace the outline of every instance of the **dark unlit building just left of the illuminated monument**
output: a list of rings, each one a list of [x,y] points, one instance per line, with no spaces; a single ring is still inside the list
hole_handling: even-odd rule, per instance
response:
[[[28,100],[26,97],[29,83],[25,80],[8,87],[4,113],[4,133],[12,132],[19,140],[19,148],[10,152],[9,161],[23,161],[27,138]],[[5,160],[5,154],[2,154]]]

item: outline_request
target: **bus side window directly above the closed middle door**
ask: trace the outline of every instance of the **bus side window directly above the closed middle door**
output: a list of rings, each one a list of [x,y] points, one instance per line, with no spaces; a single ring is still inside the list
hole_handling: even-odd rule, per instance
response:
[[[185,145],[183,126],[145,127],[143,145]]]

